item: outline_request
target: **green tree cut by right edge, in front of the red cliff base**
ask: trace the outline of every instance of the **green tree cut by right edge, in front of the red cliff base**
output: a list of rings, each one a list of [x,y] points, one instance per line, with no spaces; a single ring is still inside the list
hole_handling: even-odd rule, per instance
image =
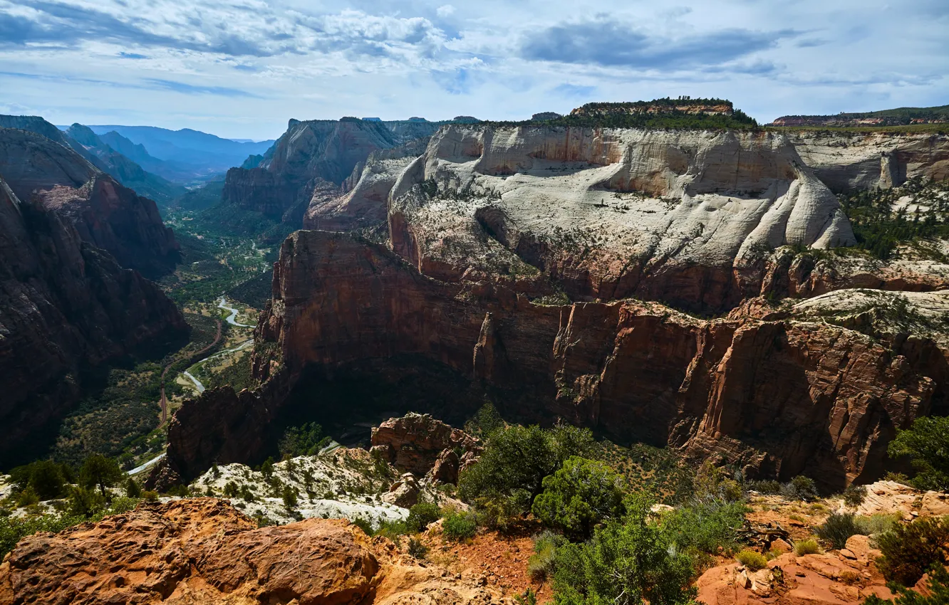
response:
[[[897,431],[889,455],[909,456],[919,471],[910,482],[919,489],[949,489],[949,417],[917,418]]]

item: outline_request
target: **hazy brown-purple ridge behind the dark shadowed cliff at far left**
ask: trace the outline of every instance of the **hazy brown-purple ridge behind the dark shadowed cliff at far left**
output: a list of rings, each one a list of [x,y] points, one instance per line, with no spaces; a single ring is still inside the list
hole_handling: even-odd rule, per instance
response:
[[[35,197],[121,266],[148,277],[175,270],[178,244],[155,202],[121,186],[73,150],[32,132],[0,128],[0,175],[21,200]]]

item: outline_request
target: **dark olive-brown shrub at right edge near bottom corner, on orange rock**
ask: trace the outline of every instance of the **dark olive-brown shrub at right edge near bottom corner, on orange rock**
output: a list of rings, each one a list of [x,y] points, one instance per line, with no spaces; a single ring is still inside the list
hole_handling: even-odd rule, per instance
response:
[[[897,524],[876,542],[883,553],[877,565],[884,578],[913,586],[931,566],[946,563],[949,522],[926,518]]]

